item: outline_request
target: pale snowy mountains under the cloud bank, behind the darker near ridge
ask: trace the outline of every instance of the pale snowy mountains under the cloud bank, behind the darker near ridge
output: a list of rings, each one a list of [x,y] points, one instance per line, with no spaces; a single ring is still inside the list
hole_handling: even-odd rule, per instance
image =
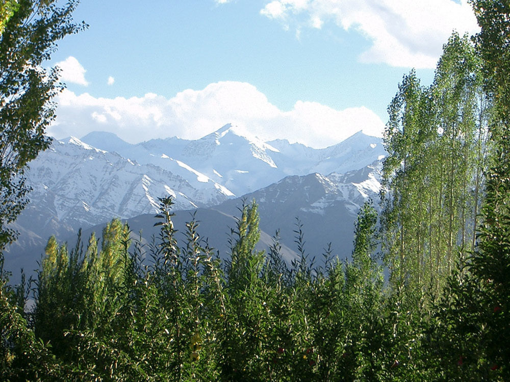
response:
[[[18,223],[30,229],[37,222],[34,232],[44,237],[62,227],[72,231],[113,216],[155,212],[158,198],[165,195],[174,198],[176,209],[207,207],[253,193],[288,175],[310,173],[317,173],[310,177],[320,180],[328,192],[315,204],[303,205],[303,211],[329,205],[329,194],[349,199],[348,210],[354,211],[358,195],[371,195],[378,183],[365,174],[357,186],[342,188],[339,179],[347,175],[338,174],[361,169],[384,154],[380,139],[361,132],[320,150],[283,140],[264,143],[231,124],[195,141],[170,138],[137,145],[111,133],[94,132],[83,141],[74,137],[54,141],[31,162],[27,177],[34,189],[29,195],[32,203]],[[307,187],[296,183],[293,190],[279,192],[300,193]],[[283,203],[282,195],[275,197]]]

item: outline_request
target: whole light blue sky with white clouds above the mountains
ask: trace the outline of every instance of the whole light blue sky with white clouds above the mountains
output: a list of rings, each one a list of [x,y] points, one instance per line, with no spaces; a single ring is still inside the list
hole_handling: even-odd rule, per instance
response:
[[[47,133],[130,143],[227,123],[315,148],[381,136],[402,76],[429,85],[452,31],[478,31],[467,0],[83,0],[74,18]]]

